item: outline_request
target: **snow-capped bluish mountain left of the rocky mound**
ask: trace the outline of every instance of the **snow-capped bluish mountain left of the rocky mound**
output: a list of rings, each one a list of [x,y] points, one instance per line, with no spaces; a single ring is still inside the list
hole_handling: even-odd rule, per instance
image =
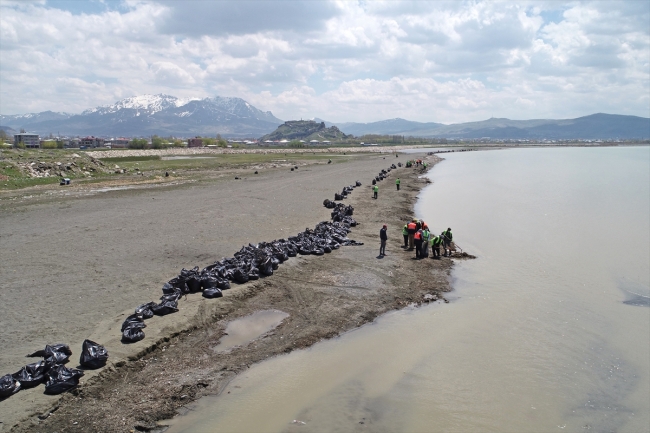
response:
[[[76,115],[46,111],[0,116],[0,125],[42,135],[257,137],[280,123],[270,111],[240,98],[180,99],[163,94],[134,96]]]

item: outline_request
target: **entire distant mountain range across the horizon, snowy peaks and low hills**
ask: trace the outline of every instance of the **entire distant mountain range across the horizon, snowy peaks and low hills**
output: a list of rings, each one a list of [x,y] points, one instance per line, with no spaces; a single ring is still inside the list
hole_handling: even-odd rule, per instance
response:
[[[348,135],[403,135],[431,138],[490,139],[648,139],[650,119],[638,116],[597,113],[575,119],[510,120],[491,118],[479,122],[445,125],[389,119],[372,123],[332,123]],[[81,114],[44,111],[22,115],[0,115],[0,128],[7,134],[20,129],[41,135],[161,136],[195,135],[261,137],[284,121],[241,98],[181,99],[170,95],[140,95],[112,105],[85,110]]]

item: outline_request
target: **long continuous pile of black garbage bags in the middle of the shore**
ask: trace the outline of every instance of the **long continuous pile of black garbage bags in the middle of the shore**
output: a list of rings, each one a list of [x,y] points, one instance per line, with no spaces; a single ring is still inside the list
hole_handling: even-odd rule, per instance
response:
[[[361,182],[346,186],[342,194],[347,197]],[[337,196],[338,193],[335,195]],[[336,197],[335,197],[336,198]],[[280,264],[296,255],[323,255],[331,253],[341,246],[363,245],[348,238],[350,227],[358,223],[352,218],[354,208],[342,203],[325,200],[323,204],[331,208],[332,221],[323,221],[311,230],[305,229],[287,239],[272,242],[248,244],[234,254],[201,270],[182,269],[181,272],[162,287],[160,302],[148,302],[138,306],[134,313],[122,323],[122,342],[134,343],[144,339],[145,320],[154,315],[165,316],[178,311],[178,301],[182,296],[201,293],[205,298],[220,298],[223,291],[230,289],[230,284],[244,284],[260,277],[273,275]]]

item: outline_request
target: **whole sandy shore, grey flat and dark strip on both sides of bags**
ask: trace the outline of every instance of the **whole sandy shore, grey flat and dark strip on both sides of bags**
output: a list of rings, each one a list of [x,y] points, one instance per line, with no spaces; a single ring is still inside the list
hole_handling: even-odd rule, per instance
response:
[[[432,156],[431,161],[437,157]],[[238,372],[269,356],[307,347],[372,321],[425,294],[449,290],[452,262],[410,260],[401,225],[426,180],[402,168],[371,199],[370,180],[406,156],[359,156],[300,170],[269,170],[242,180],[167,185],[22,203],[0,203],[0,372],[31,362],[47,343],[105,344],[109,365],[88,372],[63,396],[43,388],[0,403],[0,431],[147,431],[202,395],[218,392]],[[402,179],[395,191],[394,177]],[[331,254],[296,257],[272,277],[206,300],[182,300],[180,312],[147,322],[146,338],[120,343],[119,327],[135,306],[157,300],[160,287],[185,267],[231,257],[249,242],[287,237],[329,219],[325,198],[363,182],[346,201],[361,223],[350,237],[365,242]],[[389,225],[384,259],[378,231]],[[429,273],[422,278],[422,270]],[[289,317],[273,333],[228,354],[211,348],[228,321],[261,309]],[[56,410],[54,412],[54,410]],[[76,424],[75,424],[76,423]]]

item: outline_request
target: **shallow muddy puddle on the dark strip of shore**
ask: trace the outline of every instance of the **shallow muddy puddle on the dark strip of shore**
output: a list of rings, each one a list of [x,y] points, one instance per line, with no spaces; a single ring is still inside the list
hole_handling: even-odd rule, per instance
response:
[[[260,335],[277,327],[289,314],[278,310],[257,311],[249,316],[233,320],[226,327],[226,335],[212,350],[225,352],[233,347],[250,343]]]

